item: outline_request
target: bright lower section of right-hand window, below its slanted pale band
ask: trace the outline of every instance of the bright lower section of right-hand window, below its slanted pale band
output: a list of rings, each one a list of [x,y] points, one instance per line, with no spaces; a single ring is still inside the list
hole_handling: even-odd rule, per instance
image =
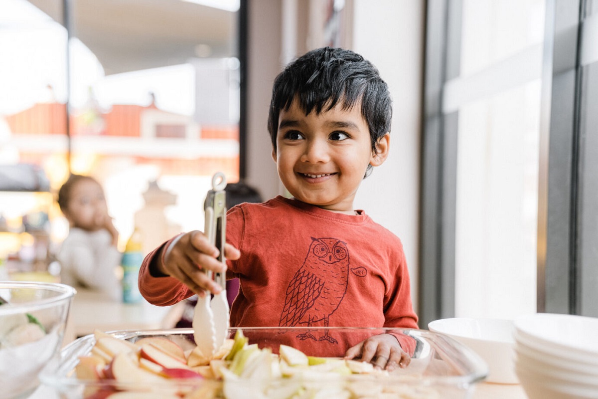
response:
[[[540,81],[459,110],[457,316],[536,309]]]

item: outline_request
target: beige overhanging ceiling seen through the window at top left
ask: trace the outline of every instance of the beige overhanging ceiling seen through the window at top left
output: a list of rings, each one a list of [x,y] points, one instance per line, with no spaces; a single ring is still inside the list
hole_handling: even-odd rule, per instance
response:
[[[29,0],[62,23],[62,0]],[[237,56],[237,13],[181,0],[70,0],[72,36],[105,74]]]

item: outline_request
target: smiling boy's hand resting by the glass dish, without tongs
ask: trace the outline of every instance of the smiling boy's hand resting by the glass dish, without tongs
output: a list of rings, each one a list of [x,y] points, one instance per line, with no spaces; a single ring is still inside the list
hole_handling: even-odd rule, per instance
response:
[[[367,361],[376,368],[394,370],[397,366],[407,367],[411,357],[401,349],[398,340],[391,334],[379,334],[347,349],[345,359],[359,358]]]

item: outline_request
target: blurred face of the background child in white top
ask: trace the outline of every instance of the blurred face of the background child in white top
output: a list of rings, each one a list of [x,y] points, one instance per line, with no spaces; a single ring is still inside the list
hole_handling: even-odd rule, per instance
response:
[[[66,218],[71,226],[96,231],[105,225],[108,206],[102,187],[91,179],[81,179],[69,193]]]

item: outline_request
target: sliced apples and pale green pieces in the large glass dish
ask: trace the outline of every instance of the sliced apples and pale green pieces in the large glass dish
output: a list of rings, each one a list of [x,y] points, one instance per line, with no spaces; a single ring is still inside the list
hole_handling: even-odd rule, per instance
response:
[[[240,329],[213,357],[160,336],[130,342],[96,331],[94,339],[89,354],[78,357],[75,366],[78,379],[96,382],[86,386],[83,397],[89,399],[441,397],[435,388],[396,383],[397,374],[371,363],[314,357],[282,344],[274,353],[268,345],[249,344]],[[395,383],[383,383],[391,378]]]

